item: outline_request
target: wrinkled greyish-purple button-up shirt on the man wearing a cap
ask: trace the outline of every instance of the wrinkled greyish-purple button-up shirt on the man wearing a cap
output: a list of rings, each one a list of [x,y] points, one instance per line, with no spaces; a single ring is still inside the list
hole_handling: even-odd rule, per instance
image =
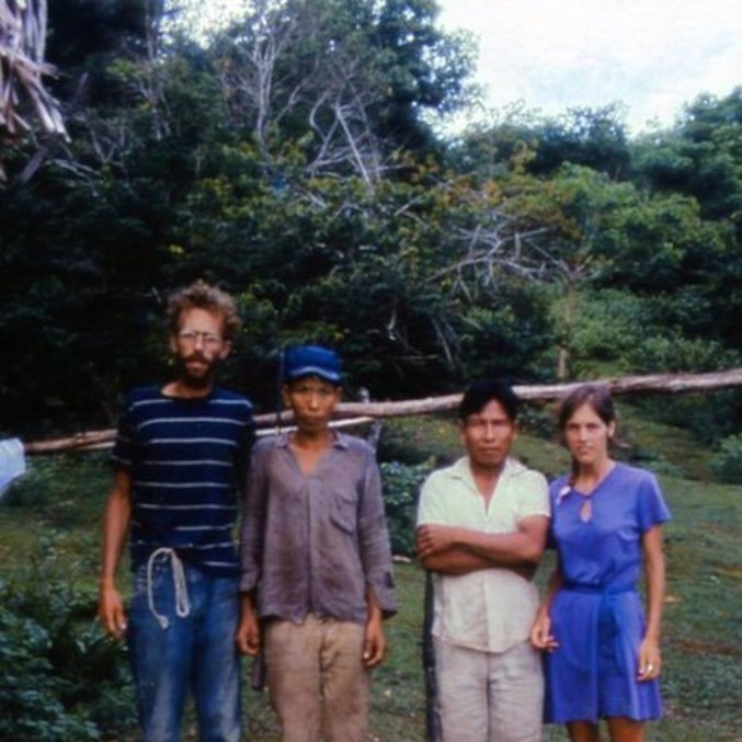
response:
[[[286,434],[252,450],[242,523],[243,592],[258,587],[263,617],[308,614],[363,624],[366,590],[397,610],[391,552],[374,450],[336,434],[305,475]]]

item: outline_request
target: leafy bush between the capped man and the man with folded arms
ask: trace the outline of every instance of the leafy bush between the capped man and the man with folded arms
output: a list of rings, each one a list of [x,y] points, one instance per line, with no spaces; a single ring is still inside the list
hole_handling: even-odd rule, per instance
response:
[[[418,493],[425,477],[434,468],[433,460],[429,459],[413,466],[399,461],[384,461],[380,468],[391,551],[395,555],[412,557]]]

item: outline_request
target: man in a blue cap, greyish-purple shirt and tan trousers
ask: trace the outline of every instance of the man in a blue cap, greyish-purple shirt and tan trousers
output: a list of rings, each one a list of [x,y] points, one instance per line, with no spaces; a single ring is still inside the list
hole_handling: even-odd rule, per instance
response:
[[[374,450],[330,427],[340,385],[333,351],[286,352],[296,430],[255,445],[248,479],[237,644],[264,652],[284,742],[365,740],[368,671],[397,610]]]

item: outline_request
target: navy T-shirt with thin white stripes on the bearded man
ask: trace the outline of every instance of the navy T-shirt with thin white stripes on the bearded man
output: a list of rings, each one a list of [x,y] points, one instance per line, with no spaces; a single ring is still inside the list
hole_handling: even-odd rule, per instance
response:
[[[237,492],[244,486],[253,437],[246,397],[165,397],[140,387],[127,397],[113,449],[132,476],[132,567],[158,548],[215,574],[237,574]]]

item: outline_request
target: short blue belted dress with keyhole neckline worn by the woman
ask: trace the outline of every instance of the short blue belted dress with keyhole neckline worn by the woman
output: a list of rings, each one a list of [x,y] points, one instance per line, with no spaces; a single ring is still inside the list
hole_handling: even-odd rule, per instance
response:
[[[670,518],[653,475],[616,464],[590,496],[555,480],[551,538],[564,584],[551,604],[558,649],[545,654],[547,722],[662,716],[657,680],[637,681],[644,612],[636,584],[642,534]],[[584,511],[583,511],[584,516]]]

